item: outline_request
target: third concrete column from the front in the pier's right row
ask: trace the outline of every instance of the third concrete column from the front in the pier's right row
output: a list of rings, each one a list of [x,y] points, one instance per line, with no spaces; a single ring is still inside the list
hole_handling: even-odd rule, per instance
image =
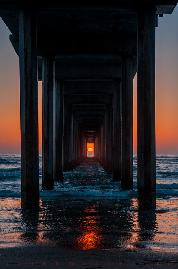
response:
[[[121,80],[114,80],[113,181],[121,180]]]

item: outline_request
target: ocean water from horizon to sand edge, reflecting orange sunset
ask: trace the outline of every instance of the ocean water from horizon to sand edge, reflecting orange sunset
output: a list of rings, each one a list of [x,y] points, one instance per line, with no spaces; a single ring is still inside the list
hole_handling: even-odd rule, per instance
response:
[[[151,248],[177,251],[178,155],[156,156],[157,208],[137,210],[137,155],[134,189],[112,182],[99,162],[64,173],[55,190],[41,190],[39,212],[21,209],[20,155],[1,154],[1,239],[3,247],[32,243],[88,249]]]

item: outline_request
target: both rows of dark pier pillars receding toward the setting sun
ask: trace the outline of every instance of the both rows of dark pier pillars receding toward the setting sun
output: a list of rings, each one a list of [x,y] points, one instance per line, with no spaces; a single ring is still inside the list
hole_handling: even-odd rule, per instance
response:
[[[138,206],[139,209],[154,209],[155,198],[155,11],[138,14]],[[19,12],[19,57],[20,57],[20,109],[21,109],[21,201],[23,208],[39,207],[39,151],[38,151],[38,88],[37,88],[37,43],[36,21],[25,11]],[[56,86],[55,86],[56,85]],[[121,91],[122,88],[122,91]],[[53,132],[53,95],[56,93],[55,135]],[[122,93],[122,94],[121,94]],[[95,138],[95,154],[101,163],[120,177],[123,189],[131,188],[133,163],[133,57],[122,57],[121,81],[114,81],[113,133],[112,121],[99,131]],[[43,189],[54,188],[54,177],[62,180],[62,155],[64,170],[79,165],[86,156],[86,138],[75,121],[75,138],[72,135],[71,113],[63,115],[63,81],[55,83],[54,58],[43,57]],[[59,99],[59,100],[58,100]],[[122,103],[122,105],[121,105]],[[70,106],[68,106],[69,108]],[[109,108],[107,108],[109,109]],[[107,110],[106,110],[107,111]],[[106,111],[104,113],[106,113]],[[61,127],[64,117],[64,136]],[[108,113],[105,114],[105,118]],[[122,117],[122,118],[121,118]],[[107,121],[108,122],[108,121]],[[122,125],[121,125],[122,123]],[[67,125],[67,126],[65,126]],[[122,126],[122,130],[121,130]],[[65,133],[65,130],[66,133]],[[123,135],[124,134],[124,135]],[[106,148],[102,140],[110,143]],[[57,138],[57,139],[56,139]],[[58,139],[59,138],[59,139]],[[61,142],[64,138],[65,141]],[[74,148],[69,147],[74,145]],[[79,143],[77,141],[80,141]],[[62,146],[64,148],[62,150]],[[55,145],[55,146],[54,146]],[[111,148],[113,146],[113,148]],[[54,148],[54,150],[53,150]],[[74,150],[75,154],[63,154]],[[100,150],[99,150],[100,148]],[[104,154],[103,154],[104,153]],[[110,154],[109,154],[110,153]],[[72,156],[72,158],[70,158]],[[68,158],[68,159],[65,159]],[[107,158],[109,161],[107,161]],[[54,161],[53,161],[54,160]],[[69,166],[65,168],[66,166]],[[55,166],[55,169],[54,169]],[[55,173],[53,173],[55,170]],[[129,186],[129,187],[128,187]]]

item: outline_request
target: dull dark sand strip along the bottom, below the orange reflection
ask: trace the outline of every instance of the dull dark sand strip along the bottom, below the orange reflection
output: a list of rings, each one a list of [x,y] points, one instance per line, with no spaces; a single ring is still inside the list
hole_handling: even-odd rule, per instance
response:
[[[73,250],[29,244],[2,248],[1,268],[178,268],[178,261],[177,253],[169,250]]]

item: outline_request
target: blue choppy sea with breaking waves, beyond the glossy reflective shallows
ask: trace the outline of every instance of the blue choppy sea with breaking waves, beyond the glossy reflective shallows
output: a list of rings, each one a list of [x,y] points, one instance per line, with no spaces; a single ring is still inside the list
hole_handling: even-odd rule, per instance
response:
[[[1,154],[1,197],[20,197],[20,155]],[[73,172],[64,173],[64,183],[55,183],[54,191],[41,190],[42,156],[39,156],[40,197],[137,197],[137,155],[134,155],[134,190],[123,191],[120,182],[112,182],[99,162],[82,163]],[[157,155],[156,158],[157,197],[178,197],[178,155]]]

